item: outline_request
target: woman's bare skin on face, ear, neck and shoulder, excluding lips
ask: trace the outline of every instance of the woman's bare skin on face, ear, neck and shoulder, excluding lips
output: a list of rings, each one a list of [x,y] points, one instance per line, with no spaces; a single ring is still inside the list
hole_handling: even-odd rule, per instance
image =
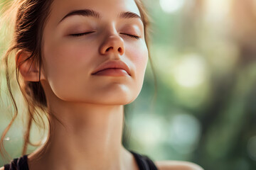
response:
[[[107,6],[107,8],[106,8]],[[101,18],[70,16],[70,11],[92,9]],[[41,169],[139,169],[134,157],[122,146],[124,105],[142,89],[148,61],[144,26],[139,18],[119,18],[121,12],[137,13],[133,0],[55,0],[43,30],[41,84],[53,118],[48,149],[28,155],[30,170]],[[61,22],[60,22],[61,21]],[[93,33],[80,37],[75,33]],[[139,39],[128,35],[137,35]],[[24,50],[16,55],[24,60]],[[94,76],[91,73],[107,60],[121,60],[131,76]],[[28,60],[20,73],[26,81],[38,81],[39,69]],[[174,163],[174,164],[173,164]],[[184,162],[155,162],[159,169],[198,169]],[[1,168],[3,169],[3,168]]]

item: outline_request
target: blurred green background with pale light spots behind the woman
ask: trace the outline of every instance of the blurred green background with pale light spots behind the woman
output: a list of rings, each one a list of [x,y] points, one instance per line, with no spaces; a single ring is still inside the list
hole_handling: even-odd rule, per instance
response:
[[[256,1],[145,2],[156,79],[148,64],[141,94],[125,106],[124,147],[206,170],[256,169]],[[0,132],[11,118],[1,95]],[[11,157],[21,154],[22,122],[5,139]]]

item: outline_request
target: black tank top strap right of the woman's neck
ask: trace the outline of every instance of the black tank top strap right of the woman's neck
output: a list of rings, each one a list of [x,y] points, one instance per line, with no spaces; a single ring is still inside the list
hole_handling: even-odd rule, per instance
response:
[[[138,154],[132,150],[129,150],[134,155],[136,162],[139,166],[139,170],[158,170],[154,162],[144,154]]]

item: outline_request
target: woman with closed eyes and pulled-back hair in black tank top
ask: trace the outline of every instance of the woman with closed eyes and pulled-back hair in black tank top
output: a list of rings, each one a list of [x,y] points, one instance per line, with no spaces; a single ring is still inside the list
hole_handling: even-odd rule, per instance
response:
[[[5,169],[201,169],[152,162],[122,146],[123,108],[139,95],[149,57],[141,1],[26,0],[14,6],[14,44],[5,57],[16,51],[28,123],[41,109],[50,130],[46,144],[26,155],[28,132],[23,157]]]

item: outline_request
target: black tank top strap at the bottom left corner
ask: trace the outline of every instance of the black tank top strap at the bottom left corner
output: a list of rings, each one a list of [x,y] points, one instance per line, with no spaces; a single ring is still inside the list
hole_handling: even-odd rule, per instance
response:
[[[4,165],[4,170],[28,170],[28,155],[13,159],[10,164]]]

